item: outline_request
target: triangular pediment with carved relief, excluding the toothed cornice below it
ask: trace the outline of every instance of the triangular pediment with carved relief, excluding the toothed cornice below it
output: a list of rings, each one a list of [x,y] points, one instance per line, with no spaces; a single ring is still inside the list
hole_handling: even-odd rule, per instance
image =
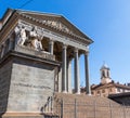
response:
[[[76,35],[78,37],[84,38],[87,40],[92,40],[86,36],[83,32],[81,32],[75,25],[73,25],[69,21],[67,21],[62,15],[55,15],[55,14],[47,14],[47,13],[37,13],[37,12],[27,12],[27,11],[18,11],[18,13],[26,15],[28,17],[35,18],[40,21],[41,23],[44,23],[51,27],[54,27],[61,31]]]

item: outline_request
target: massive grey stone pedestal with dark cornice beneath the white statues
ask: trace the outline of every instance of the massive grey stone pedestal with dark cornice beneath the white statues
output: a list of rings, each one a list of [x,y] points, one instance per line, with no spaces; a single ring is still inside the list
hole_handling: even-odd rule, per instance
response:
[[[0,65],[0,112],[5,114],[4,118],[14,118],[10,117],[9,113],[40,114],[48,97],[54,93],[54,80],[60,64],[12,51]]]

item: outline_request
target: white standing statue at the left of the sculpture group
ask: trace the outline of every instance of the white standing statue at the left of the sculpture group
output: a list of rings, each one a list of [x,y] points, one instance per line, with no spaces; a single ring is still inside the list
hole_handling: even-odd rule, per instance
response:
[[[20,29],[18,44],[24,45],[26,39],[27,39],[27,36],[26,36],[25,27],[22,26],[22,28]]]

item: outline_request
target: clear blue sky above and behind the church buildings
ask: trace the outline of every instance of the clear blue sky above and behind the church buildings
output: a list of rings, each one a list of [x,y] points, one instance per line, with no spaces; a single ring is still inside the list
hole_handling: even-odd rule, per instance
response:
[[[63,15],[94,41],[89,47],[90,83],[101,82],[104,62],[115,82],[130,82],[130,0],[0,0],[0,17],[8,8]],[[81,86],[83,64],[81,55]]]

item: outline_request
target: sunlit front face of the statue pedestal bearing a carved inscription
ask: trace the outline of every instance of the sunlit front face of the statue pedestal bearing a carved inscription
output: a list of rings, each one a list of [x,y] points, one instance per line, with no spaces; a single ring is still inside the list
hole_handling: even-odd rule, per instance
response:
[[[14,60],[8,112],[40,112],[54,92],[55,67],[40,62]]]

